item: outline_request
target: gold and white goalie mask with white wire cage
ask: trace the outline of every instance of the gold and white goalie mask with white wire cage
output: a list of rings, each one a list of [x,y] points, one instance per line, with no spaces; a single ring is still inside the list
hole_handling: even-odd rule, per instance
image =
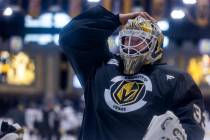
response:
[[[124,73],[137,73],[143,65],[162,58],[163,34],[157,23],[140,16],[128,20],[119,33],[120,57]]]

